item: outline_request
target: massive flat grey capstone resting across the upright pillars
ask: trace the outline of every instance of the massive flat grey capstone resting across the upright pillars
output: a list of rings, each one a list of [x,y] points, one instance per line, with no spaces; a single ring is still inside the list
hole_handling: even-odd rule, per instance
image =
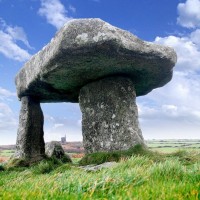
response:
[[[100,19],[71,20],[16,76],[17,93],[40,102],[78,102],[87,83],[123,74],[140,96],[169,82],[175,62],[171,48],[144,42]]]

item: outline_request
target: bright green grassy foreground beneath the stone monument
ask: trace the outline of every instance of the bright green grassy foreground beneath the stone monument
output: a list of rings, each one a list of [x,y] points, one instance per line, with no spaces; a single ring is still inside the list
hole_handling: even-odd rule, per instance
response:
[[[158,156],[158,155],[156,155]],[[42,161],[1,171],[0,199],[200,199],[200,156],[195,152],[136,155],[110,169]]]

